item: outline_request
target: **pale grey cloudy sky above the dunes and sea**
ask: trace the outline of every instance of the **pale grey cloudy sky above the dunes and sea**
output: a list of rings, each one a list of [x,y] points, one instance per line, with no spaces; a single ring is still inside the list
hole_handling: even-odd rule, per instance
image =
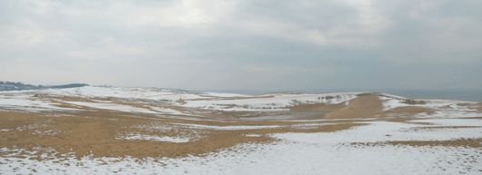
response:
[[[0,1],[0,81],[482,89],[482,1]]]

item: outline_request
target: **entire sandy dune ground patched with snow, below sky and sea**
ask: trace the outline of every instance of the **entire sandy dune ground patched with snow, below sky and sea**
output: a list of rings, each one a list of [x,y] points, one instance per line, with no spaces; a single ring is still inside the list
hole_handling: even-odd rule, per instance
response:
[[[378,92],[0,92],[0,173],[478,174],[481,119]]]

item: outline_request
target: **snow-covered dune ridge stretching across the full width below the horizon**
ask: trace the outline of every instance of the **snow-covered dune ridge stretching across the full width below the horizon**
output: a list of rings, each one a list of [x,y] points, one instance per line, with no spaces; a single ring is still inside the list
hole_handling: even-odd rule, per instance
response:
[[[380,92],[332,92],[318,94],[278,92],[262,95],[245,95],[223,92],[185,92],[157,88],[113,88],[85,86],[81,88],[69,89],[0,92],[0,107],[30,109],[31,111],[49,109],[75,110],[73,108],[62,108],[62,105],[60,104],[66,103],[75,104],[76,106],[85,106],[121,112],[198,115],[199,113],[196,114],[195,112],[187,111],[189,111],[189,109],[193,109],[223,112],[280,112],[289,111],[291,107],[300,105],[349,105],[349,103],[354,99],[367,95],[376,96],[380,100],[381,105],[383,106],[382,112],[391,112],[394,111],[394,109],[401,109],[401,107],[421,107],[433,109],[437,112],[443,111],[446,113],[465,113],[465,117],[474,117],[474,112],[477,112],[477,105],[479,105],[477,102],[407,99],[397,95]],[[69,98],[55,99],[54,97]],[[73,97],[79,98],[82,102],[76,102],[79,99],[73,99]],[[148,105],[159,103],[165,103],[168,106]],[[135,106],[128,107],[129,105]],[[367,106],[364,106],[362,103],[362,105],[358,105],[357,108],[366,107]],[[185,111],[181,112],[181,108],[185,109]],[[432,114],[437,114],[438,116],[443,115],[443,113],[437,112],[432,112]],[[472,114],[467,115],[467,112]],[[420,116],[424,114],[427,115],[427,113],[422,113]],[[333,114],[328,115],[333,116]],[[372,113],[369,117],[373,117],[372,115],[375,116],[377,114]]]

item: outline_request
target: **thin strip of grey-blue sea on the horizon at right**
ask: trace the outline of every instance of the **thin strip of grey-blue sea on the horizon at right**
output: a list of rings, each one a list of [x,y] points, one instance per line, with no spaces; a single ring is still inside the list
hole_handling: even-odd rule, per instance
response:
[[[390,94],[417,99],[446,99],[470,102],[482,102],[482,89],[411,89],[411,90],[380,90],[380,89],[359,89],[359,90],[292,90],[292,91],[202,91],[202,92],[232,92],[241,94],[263,94],[268,92],[387,92]]]

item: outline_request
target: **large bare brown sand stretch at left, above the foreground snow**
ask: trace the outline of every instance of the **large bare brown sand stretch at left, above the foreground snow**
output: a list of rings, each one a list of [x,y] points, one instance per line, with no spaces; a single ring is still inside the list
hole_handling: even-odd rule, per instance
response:
[[[53,114],[57,116],[52,116]],[[64,116],[62,116],[64,115]],[[73,115],[73,116],[65,116]],[[268,137],[276,132],[340,131],[360,123],[338,123],[316,127],[291,127],[292,122],[276,129],[216,131],[192,129],[176,125],[172,130],[156,130],[150,126],[173,126],[176,123],[210,125],[280,124],[283,122],[196,122],[182,120],[153,120],[152,116],[126,112],[0,112],[0,148],[17,148],[33,151],[34,148],[53,148],[59,153],[75,152],[77,158],[94,157],[185,157],[202,156],[208,152],[230,148],[239,143],[274,141]],[[146,127],[139,127],[146,126]],[[116,139],[129,133],[153,136],[193,137],[196,141],[127,141]],[[260,134],[248,137],[246,134]],[[41,154],[42,151],[37,154]],[[38,158],[40,159],[40,158]]]

